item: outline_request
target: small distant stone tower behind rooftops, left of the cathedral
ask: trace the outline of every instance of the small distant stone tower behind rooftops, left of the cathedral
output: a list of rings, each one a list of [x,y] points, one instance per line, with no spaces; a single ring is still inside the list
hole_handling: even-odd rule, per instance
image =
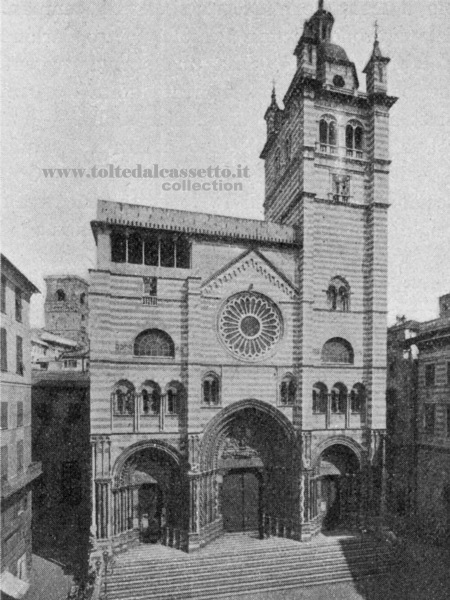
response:
[[[89,284],[78,275],[45,277],[45,329],[87,343]]]

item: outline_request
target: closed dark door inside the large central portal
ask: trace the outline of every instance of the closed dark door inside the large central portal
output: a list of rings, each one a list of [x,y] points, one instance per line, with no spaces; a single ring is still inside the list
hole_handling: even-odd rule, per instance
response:
[[[236,469],[223,479],[221,505],[225,531],[255,531],[261,527],[261,475]]]

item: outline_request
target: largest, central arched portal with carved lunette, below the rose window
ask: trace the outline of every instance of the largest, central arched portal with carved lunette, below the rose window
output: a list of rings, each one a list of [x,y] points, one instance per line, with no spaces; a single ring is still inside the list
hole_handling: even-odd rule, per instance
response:
[[[258,400],[227,407],[208,425],[199,459],[206,477],[199,527],[206,541],[210,530],[214,535],[254,530],[263,535],[268,521],[292,521],[299,470],[296,437],[279,410]]]

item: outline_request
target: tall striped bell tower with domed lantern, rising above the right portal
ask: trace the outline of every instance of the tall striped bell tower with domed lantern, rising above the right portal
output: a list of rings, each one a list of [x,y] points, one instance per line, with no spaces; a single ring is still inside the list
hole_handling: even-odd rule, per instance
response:
[[[313,446],[339,429],[371,456],[385,428],[389,110],[396,98],[388,95],[389,58],[378,36],[362,92],[355,64],[332,41],[333,26],[319,1],[294,50],[283,106],[272,100],[266,113],[276,110],[261,153],[264,209],[266,220],[297,227],[301,244],[294,425]],[[313,405],[314,389],[328,394],[323,411]],[[338,417],[330,397],[353,389],[363,390],[364,410],[357,416],[348,403]]]

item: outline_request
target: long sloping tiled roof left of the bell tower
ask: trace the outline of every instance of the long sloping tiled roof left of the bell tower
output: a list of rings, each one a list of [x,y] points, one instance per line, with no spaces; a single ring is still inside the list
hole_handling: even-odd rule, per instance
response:
[[[124,204],[99,200],[96,225],[107,223],[127,227],[165,229],[188,234],[265,241],[270,243],[296,244],[297,233],[293,227],[257,219],[225,217],[209,213],[172,210],[156,206]]]

